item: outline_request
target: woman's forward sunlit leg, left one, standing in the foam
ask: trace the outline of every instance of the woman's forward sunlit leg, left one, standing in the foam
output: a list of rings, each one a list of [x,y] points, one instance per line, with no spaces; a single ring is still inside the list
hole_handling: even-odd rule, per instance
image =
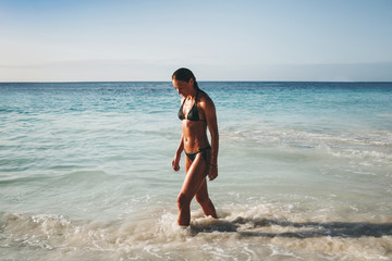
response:
[[[177,197],[179,220],[181,226],[188,226],[191,223],[191,201],[206,181],[208,166],[206,161],[198,153],[192,162],[188,158],[185,160],[185,179]],[[207,188],[207,187],[206,187]]]

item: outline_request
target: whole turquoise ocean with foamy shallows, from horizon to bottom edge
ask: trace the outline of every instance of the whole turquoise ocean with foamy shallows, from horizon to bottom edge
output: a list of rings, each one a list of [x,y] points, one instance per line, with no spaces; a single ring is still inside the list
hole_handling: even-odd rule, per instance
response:
[[[0,83],[0,260],[392,260],[392,83],[200,82],[219,215],[171,169],[159,83]]]

